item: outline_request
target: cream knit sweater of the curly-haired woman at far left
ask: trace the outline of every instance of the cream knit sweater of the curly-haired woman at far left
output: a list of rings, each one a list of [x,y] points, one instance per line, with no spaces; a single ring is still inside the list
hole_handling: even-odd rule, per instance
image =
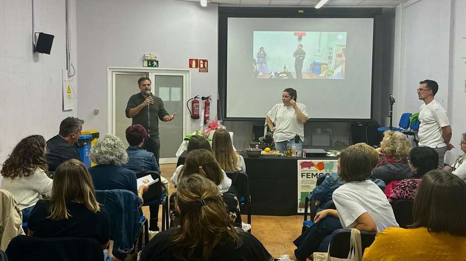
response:
[[[36,205],[42,199],[41,194],[48,197],[52,194],[53,180],[44,170],[36,168],[34,173],[27,177],[3,178],[1,188],[9,191],[19,209],[23,210]]]

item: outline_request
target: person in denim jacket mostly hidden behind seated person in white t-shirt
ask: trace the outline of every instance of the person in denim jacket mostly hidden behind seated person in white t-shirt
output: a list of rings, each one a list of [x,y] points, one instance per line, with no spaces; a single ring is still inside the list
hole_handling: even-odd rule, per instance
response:
[[[349,148],[354,148],[367,154],[370,154],[370,151],[373,150],[365,143],[357,143],[349,146]],[[385,191],[385,183],[381,179],[373,177],[370,177],[369,179],[373,181],[382,191]],[[332,200],[333,192],[343,184],[345,184],[345,182],[340,178],[338,173],[333,172],[325,177],[325,180],[322,182],[322,184],[312,190],[312,198],[316,200],[316,206],[318,207],[317,211],[324,209],[327,202]]]

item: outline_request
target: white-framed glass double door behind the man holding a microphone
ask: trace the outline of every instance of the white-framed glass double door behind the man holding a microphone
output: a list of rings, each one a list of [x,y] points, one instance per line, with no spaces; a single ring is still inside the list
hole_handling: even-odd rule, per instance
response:
[[[140,92],[137,80],[148,77],[152,93],[160,97],[174,120],[159,120],[160,163],[176,163],[176,151],[190,129],[184,104],[190,97],[189,71],[145,68],[109,68],[109,124],[108,132],[119,137],[127,147],[125,130],[132,120],[126,118],[125,109],[131,95]]]

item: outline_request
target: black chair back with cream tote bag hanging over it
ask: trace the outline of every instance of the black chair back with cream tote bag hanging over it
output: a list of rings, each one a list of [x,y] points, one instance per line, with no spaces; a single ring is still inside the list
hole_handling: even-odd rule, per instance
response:
[[[362,253],[364,250],[375,240],[375,235],[377,232],[367,232],[361,231],[361,246]],[[335,230],[332,234],[332,239],[330,240],[329,253],[331,257],[346,259],[348,258],[349,253],[349,240],[351,238],[351,229],[338,229]]]

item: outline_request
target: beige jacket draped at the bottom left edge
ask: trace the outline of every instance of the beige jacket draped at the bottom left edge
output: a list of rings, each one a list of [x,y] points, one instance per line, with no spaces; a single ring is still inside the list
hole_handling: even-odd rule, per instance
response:
[[[23,222],[13,195],[4,189],[0,189],[0,209],[0,250],[5,251],[11,239],[24,235]]]

